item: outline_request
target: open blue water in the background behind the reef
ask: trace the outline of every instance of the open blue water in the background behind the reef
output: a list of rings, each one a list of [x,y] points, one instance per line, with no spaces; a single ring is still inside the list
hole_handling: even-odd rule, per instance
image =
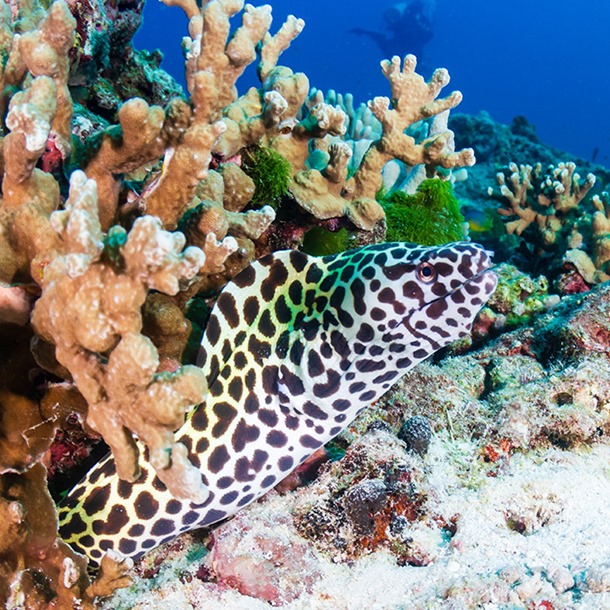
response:
[[[411,0],[413,1],[413,0]],[[459,110],[488,111],[510,123],[524,115],[547,144],[610,164],[610,1],[583,0],[437,0],[432,40],[424,47],[422,73],[445,67],[449,89],[459,89]],[[256,2],[254,4],[257,4]],[[388,31],[389,0],[276,0],[272,32],[285,16],[305,19],[302,34],[282,63],[305,72],[313,86],[351,92],[356,101],[388,95],[379,70],[385,57],[369,38],[351,30]],[[182,77],[180,40],[186,19],[178,8],[149,0],[138,48],[160,48],[163,67]],[[393,52],[404,55],[409,31]],[[403,44],[404,43],[404,44]],[[392,45],[394,49],[394,45]],[[256,84],[251,71],[238,89]]]

